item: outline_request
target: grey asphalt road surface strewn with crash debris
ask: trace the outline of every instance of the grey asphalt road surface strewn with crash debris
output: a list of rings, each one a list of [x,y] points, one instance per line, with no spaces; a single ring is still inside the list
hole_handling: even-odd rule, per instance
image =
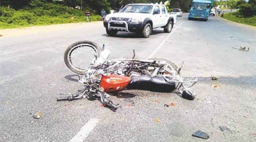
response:
[[[184,61],[184,76],[197,73],[199,82],[192,88],[196,99],[122,91],[111,96],[123,106],[116,112],[96,100],[56,101],[59,93],[75,93],[82,87],[64,64],[64,50],[78,40],[92,40],[105,44],[112,51],[110,58],[131,56],[132,49],[136,58],[148,58],[168,36],[163,29],[154,29],[149,38],[126,32],[109,37],[96,22],[1,37],[0,141],[70,142],[94,119],[98,123],[85,142],[255,141],[251,133],[256,132],[256,30],[216,17],[188,21],[186,14],[178,17],[177,25],[154,56],[178,66]],[[232,48],[245,45],[252,52]],[[213,88],[210,76],[219,77],[221,87]],[[129,107],[132,102],[136,105]],[[164,108],[165,103],[175,106]],[[32,118],[36,112],[42,113],[40,119]],[[192,137],[197,130],[208,133],[209,140]]]

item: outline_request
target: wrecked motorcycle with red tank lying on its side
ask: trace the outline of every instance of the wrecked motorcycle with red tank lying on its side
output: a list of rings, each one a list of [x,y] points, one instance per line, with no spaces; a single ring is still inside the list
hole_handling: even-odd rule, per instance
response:
[[[74,63],[71,55],[80,48],[90,48],[94,52],[92,61],[88,67],[79,67]],[[85,51],[87,52],[87,51]],[[81,53],[81,52],[79,52]],[[75,100],[87,98],[98,99],[112,110],[119,108],[110,99],[110,92],[118,92],[127,89],[147,90],[154,92],[173,92],[181,94],[182,98],[194,99],[194,93],[188,89],[197,82],[197,75],[182,77],[184,68],[178,68],[173,62],[161,59],[135,59],[133,50],[132,58],[119,58],[108,60],[110,50],[105,45],[99,47],[91,41],[79,41],[71,44],[64,53],[66,66],[78,74],[78,82],[83,83],[82,91],[60,100]],[[86,54],[86,56],[89,56]],[[84,56],[82,56],[85,59]],[[81,61],[81,60],[79,60]]]

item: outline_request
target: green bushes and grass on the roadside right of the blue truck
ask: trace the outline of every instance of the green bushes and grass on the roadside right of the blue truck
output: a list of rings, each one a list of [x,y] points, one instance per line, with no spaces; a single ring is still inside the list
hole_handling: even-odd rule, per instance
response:
[[[226,6],[223,6],[223,5]],[[233,13],[224,13],[224,17],[227,20],[249,24],[256,26],[256,0],[229,0],[229,1],[214,1],[214,5],[220,5],[221,7],[227,7],[229,9],[239,9]]]

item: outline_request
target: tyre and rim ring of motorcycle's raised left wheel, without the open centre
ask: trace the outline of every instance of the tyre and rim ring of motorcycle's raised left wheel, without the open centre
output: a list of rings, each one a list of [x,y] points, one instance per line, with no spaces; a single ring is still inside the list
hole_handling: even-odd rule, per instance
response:
[[[65,50],[64,62],[66,64],[66,66],[71,71],[78,73],[80,75],[84,75],[86,73],[87,69],[81,69],[80,67],[74,65],[71,60],[71,54],[77,48],[92,48],[95,51],[95,60],[96,60],[100,56],[101,47],[99,47],[96,43],[91,42],[89,40],[83,40],[83,41],[75,42],[75,43],[69,45],[69,47]]]

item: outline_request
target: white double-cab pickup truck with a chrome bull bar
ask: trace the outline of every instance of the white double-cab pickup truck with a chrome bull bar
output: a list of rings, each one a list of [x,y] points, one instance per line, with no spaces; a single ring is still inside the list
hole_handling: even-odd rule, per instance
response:
[[[118,31],[135,32],[148,38],[153,28],[164,28],[171,32],[176,23],[176,15],[170,15],[165,5],[161,4],[128,4],[118,13],[105,17],[104,27],[110,36]]]

